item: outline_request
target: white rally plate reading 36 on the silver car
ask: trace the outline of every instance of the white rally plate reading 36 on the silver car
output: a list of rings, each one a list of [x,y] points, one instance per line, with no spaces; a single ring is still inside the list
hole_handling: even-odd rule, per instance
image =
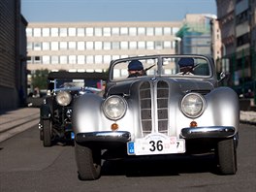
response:
[[[127,144],[129,155],[175,154],[185,152],[185,140],[164,134],[149,134]]]

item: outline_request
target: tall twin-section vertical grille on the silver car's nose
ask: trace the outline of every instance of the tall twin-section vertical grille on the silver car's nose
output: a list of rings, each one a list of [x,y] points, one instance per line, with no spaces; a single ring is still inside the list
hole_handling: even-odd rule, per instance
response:
[[[150,133],[168,134],[169,85],[164,80],[144,81],[140,86],[143,136]]]

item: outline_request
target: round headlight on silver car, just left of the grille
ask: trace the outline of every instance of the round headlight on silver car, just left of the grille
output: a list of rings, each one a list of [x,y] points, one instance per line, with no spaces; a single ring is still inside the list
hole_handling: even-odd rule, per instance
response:
[[[116,95],[107,98],[103,104],[103,112],[112,120],[118,120],[123,117],[126,109],[126,101],[122,97]]]

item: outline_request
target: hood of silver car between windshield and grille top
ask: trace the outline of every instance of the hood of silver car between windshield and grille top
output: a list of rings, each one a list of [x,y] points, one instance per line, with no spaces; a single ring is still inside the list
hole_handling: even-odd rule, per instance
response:
[[[172,90],[177,92],[200,92],[208,93],[214,88],[214,84],[208,80],[181,80],[181,79],[170,79],[170,78],[152,78],[152,79],[140,79],[140,80],[126,80],[120,82],[111,83],[107,88],[106,96],[110,95],[131,95],[133,90],[137,92],[138,88],[142,83],[148,81],[150,83],[156,83],[158,81],[165,81],[169,84]]]

